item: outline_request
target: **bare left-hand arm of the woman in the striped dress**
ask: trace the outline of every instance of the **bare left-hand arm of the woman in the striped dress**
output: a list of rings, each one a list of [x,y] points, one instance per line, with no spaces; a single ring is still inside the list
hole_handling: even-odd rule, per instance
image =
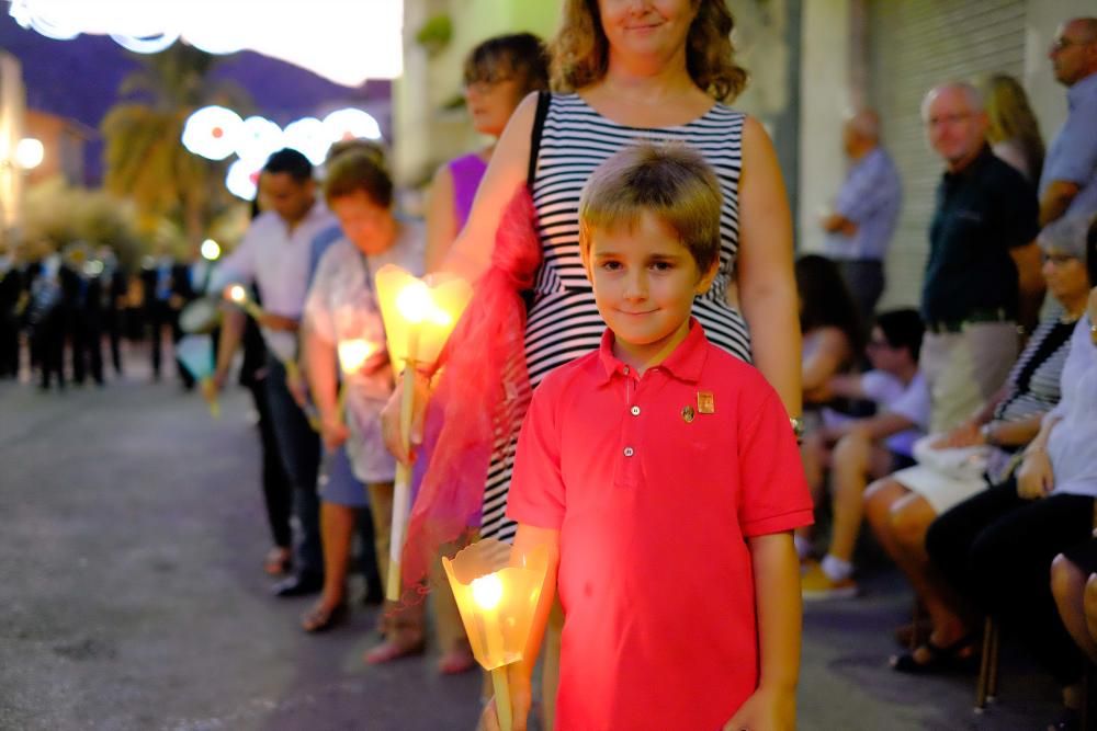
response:
[[[531,93],[510,116],[476,191],[468,221],[442,258],[438,270],[476,282],[491,263],[499,218],[514,190],[525,181],[536,110],[538,95]]]

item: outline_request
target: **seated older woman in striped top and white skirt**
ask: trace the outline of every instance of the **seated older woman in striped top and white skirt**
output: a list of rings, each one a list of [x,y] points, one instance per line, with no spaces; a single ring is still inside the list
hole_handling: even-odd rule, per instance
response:
[[[974,659],[972,626],[957,608],[959,601],[948,584],[931,570],[925,538],[938,515],[1009,477],[1019,449],[1036,436],[1043,415],[1059,402],[1060,375],[1070,338],[1085,310],[1090,286],[1082,263],[1085,228],[1076,221],[1049,226],[1040,236],[1040,245],[1048,290],[1066,315],[1042,322],[998,396],[966,423],[938,438],[930,450],[955,455],[981,447],[986,457],[985,472],[968,475],[917,465],[874,482],[866,492],[866,518],[881,546],[909,579],[931,625],[924,646],[895,659],[893,665],[898,671],[938,670],[941,665],[970,664]]]

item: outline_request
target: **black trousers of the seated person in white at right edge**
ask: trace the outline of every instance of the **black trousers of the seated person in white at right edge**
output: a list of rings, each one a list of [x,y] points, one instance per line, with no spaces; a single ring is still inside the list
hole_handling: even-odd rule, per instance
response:
[[[1093,503],[1068,494],[1021,500],[1009,479],[938,517],[926,535],[953,589],[997,617],[1064,686],[1082,677],[1082,651],[1059,618],[1051,561],[1089,535]]]

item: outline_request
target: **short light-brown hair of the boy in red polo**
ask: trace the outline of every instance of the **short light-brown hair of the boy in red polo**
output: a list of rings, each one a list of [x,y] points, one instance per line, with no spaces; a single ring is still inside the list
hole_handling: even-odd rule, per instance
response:
[[[641,144],[615,152],[591,173],[579,198],[579,248],[596,228],[630,225],[651,213],[678,236],[701,272],[720,258],[720,182],[685,145]]]

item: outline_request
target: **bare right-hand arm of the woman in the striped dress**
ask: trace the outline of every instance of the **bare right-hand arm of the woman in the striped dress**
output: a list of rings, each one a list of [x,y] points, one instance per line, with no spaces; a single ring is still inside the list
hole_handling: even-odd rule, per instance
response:
[[[747,117],[739,179],[738,293],[755,365],[790,416],[802,411],[792,215],[769,135]]]

